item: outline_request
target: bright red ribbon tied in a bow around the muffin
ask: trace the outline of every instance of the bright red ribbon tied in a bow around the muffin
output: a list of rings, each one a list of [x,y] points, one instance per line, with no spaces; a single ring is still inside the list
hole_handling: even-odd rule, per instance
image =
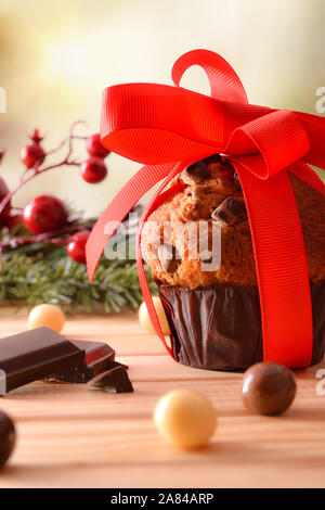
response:
[[[199,65],[211,97],[180,87],[184,72]],[[115,196],[87,243],[92,280],[103,250],[134,204],[162,181],[145,207],[138,233],[139,279],[156,332],[162,335],[145,278],[140,239],[156,199],[184,167],[225,154],[240,179],[253,242],[263,328],[264,360],[291,368],[312,357],[310,283],[298,207],[288,171],[325,193],[306,163],[325,169],[325,118],[248,104],[227,62],[207,50],[182,55],[172,68],[176,87],[129,84],[104,91],[101,133],[113,152],[146,164]],[[106,227],[106,230],[105,230]]]

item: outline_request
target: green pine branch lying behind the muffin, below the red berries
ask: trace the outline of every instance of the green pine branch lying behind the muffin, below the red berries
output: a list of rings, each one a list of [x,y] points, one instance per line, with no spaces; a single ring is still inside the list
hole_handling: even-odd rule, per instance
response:
[[[147,277],[155,292],[148,270]],[[64,247],[35,243],[3,254],[0,302],[29,307],[53,303],[65,311],[77,307],[91,311],[102,305],[112,313],[123,307],[136,309],[142,296],[132,260],[103,257],[90,284],[86,266],[72,260]]]

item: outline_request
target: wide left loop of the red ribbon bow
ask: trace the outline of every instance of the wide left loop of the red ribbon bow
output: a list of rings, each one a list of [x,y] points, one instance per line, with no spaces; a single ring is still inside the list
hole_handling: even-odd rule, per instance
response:
[[[160,165],[220,152],[223,129],[221,102],[190,90],[130,84],[103,93],[102,143],[139,163]]]

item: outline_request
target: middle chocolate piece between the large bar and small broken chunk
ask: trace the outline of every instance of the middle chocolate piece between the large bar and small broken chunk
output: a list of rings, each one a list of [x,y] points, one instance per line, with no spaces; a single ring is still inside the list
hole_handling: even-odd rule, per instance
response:
[[[47,380],[64,381],[68,383],[87,383],[99,373],[110,368],[115,359],[115,350],[103,342],[87,342],[82,340],[70,341],[86,354],[84,359],[77,367],[51,374]]]

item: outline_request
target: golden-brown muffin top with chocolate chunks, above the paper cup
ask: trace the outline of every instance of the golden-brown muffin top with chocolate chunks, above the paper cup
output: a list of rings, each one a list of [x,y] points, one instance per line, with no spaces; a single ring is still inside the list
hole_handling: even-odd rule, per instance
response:
[[[309,276],[325,280],[325,195],[289,174],[302,225]],[[195,289],[257,285],[252,241],[238,177],[216,154],[185,168],[159,197],[141,248],[156,280]]]

